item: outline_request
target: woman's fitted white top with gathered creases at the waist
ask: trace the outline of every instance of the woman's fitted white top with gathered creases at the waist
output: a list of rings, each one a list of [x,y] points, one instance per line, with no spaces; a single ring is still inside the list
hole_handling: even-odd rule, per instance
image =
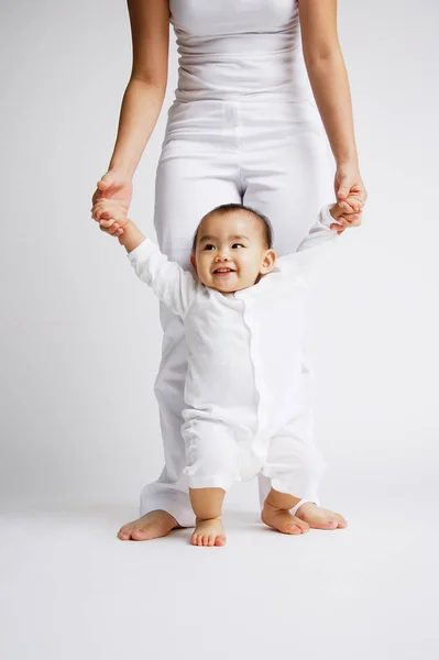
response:
[[[297,0],[169,0],[179,101],[312,100]]]

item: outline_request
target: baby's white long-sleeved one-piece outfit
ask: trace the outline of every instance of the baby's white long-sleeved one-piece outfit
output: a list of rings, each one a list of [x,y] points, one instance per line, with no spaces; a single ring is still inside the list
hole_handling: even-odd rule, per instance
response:
[[[323,462],[304,433],[300,351],[308,284],[338,237],[329,208],[297,252],[231,294],[206,287],[149,239],[128,254],[138,276],[184,322],[182,435],[191,488],[227,491],[262,470],[276,491],[315,497]]]

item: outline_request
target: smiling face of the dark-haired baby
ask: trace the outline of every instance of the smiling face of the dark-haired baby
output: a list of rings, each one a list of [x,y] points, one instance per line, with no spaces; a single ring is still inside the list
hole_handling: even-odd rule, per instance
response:
[[[246,211],[235,210],[202,220],[190,261],[199,280],[221,293],[253,286],[272,271],[276,254],[264,245],[263,227]]]

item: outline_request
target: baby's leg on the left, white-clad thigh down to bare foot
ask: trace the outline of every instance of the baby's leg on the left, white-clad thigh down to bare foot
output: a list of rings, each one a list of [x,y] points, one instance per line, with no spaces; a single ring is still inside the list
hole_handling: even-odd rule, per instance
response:
[[[194,546],[224,546],[221,508],[224,494],[240,480],[233,429],[200,410],[183,411],[189,496],[196,515]]]

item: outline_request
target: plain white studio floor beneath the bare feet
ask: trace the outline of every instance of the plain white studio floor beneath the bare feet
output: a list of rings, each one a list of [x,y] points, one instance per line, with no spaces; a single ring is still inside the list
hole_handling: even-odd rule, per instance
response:
[[[348,529],[303,537],[229,498],[212,549],[119,541],[135,503],[3,503],[0,657],[433,660],[437,493],[353,492]]]

